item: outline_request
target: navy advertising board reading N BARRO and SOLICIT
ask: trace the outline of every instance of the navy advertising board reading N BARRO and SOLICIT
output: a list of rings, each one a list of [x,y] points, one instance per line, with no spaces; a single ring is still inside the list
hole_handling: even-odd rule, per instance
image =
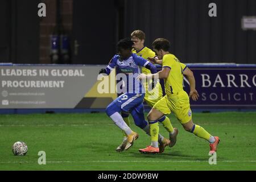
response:
[[[199,100],[197,108],[256,108],[256,65],[187,64],[196,80]],[[163,83],[163,81],[162,81]],[[184,77],[184,90],[189,94],[189,82]]]

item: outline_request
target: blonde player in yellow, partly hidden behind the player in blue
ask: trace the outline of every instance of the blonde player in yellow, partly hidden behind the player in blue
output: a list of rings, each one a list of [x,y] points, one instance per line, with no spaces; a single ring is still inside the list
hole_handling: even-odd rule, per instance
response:
[[[152,51],[150,48],[147,48],[144,46],[144,41],[145,41],[146,35],[142,30],[135,30],[131,32],[131,40],[133,41],[133,53],[137,54],[138,56],[143,57],[144,59],[147,59],[148,57],[155,57],[155,52]],[[149,74],[151,73],[149,69],[141,67],[141,71],[144,74]],[[154,83],[153,83],[154,84]],[[162,92],[162,87],[159,82],[157,82],[154,86],[154,89],[148,89],[151,88],[150,85],[147,85],[147,82],[144,82],[144,88],[146,90],[144,101],[147,102],[147,104],[150,107],[153,107],[156,102],[158,102],[162,97],[163,97],[163,92]],[[122,118],[126,122],[128,126],[130,126],[130,121],[129,121],[129,113],[122,112]],[[177,135],[177,129],[174,129],[171,125],[170,119],[167,118],[165,115],[163,115],[161,118],[158,119],[159,122],[162,122],[163,126],[167,129],[168,132],[170,132],[173,135]],[[149,126],[147,125],[143,130],[146,131],[146,133],[149,133]],[[162,135],[159,134],[158,142],[160,144],[159,146],[159,152],[163,152],[164,148],[166,146],[172,146],[170,144],[170,140],[162,137]],[[127,136],[123,132],[123,142],[116,148],[116,151],[121,152],[124,150],[127,142]]]

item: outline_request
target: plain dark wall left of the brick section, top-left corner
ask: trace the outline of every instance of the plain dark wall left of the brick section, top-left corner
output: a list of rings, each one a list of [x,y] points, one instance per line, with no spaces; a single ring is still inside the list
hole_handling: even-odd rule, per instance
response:
[[[0,1],[1,63],[39,62],[39,0]]]

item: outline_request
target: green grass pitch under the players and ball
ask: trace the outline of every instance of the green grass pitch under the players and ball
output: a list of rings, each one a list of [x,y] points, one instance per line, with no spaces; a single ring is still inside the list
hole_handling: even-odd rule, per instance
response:
[[[176,145],[163,154],[145,155],[138,149],[150,138],[132,118],[139,139],[118,153],[122,133],[105,113],[0,115],[0,170],[256,170],[256,113],[193,113],[195,123],[220,137],[216,165],[208,163],[208,142],[169,117],[179,129]],[[16,141],[27,143],[26,156],[13,155]],[[38,164],[39,151],[46,152],[46,165]]]

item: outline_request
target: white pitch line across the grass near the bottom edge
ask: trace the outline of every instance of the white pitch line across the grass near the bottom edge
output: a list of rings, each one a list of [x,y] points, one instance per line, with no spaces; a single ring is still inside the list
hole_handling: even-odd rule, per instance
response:
[[[256,160],[218,160],[217,162],[224,163],[256,163]],[[9,162],[0,162],[0,164],[8,163],[36,163],[28,161],[9,161]],[[48,161],[46,163],[152,163],[152,161],[145,160],[92,160],[92,161]],[[163,161],[154,161],[154,163],[208,163],[208,161],[202,160],[163,160]]]

